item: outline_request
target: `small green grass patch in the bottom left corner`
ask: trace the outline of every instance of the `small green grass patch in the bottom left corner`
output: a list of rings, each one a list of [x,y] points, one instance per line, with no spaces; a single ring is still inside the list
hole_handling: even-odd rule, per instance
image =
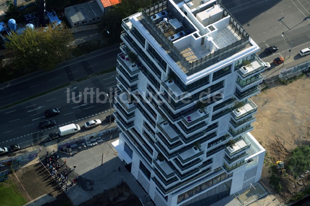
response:
[[[0,206],[19,206],[28,202],[10,179],[0,182],[0,197]]]

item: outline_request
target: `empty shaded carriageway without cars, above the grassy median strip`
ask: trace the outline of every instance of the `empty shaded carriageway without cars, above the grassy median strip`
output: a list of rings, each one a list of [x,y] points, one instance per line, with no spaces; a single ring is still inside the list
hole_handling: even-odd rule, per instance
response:
[[[116,66],[119,45],[101,49],[57,66],[0,85],[0,107]]]

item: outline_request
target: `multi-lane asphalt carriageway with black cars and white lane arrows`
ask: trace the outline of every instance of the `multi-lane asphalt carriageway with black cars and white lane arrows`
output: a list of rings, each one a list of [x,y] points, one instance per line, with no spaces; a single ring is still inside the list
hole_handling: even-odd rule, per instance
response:
[[[115,73],[96,76],[0,111],[0,146],[23,143],[37,138],[39,133],[45,136],[73,122],[80,125],[81,130],[85,130],[84,123],[92,119],[101,119],[105,124],[105,117],[110,114],[106,93],[113,107]],[[85,88],[87,91],[92,88],[94,94],[85,93]],[[46,118],[44,111],[51,108],[59,108],[61,113]],[[57,125],[41,129],[39,122],[47,119],[54,119]]]

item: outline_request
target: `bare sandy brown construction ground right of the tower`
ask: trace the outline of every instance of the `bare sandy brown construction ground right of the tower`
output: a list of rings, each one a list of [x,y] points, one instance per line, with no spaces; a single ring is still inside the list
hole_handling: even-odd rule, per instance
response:
[[[275,81],[268,86],[269,89],[251,98],[258,106],[251,134],[266,149],[261,178],[272,188],[269,177],[275,162],[284,161],[287,165],[290,151],[310,144],[310,78],[304,75],[288,85]],[[288,173],[288,177],[281,178],[284,189],[278,196],[285,202],[310,183],[309,173],[299,183]]]

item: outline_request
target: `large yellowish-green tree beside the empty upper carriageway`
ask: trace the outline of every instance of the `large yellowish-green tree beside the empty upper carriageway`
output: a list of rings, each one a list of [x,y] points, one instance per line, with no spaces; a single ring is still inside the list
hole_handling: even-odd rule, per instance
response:
[[[12,33],[6,43],[15,70],[29,73],[51,70],[71,55],[73,36],[65,27],[51,25],[46,28],[30,29],[18,35]]]

